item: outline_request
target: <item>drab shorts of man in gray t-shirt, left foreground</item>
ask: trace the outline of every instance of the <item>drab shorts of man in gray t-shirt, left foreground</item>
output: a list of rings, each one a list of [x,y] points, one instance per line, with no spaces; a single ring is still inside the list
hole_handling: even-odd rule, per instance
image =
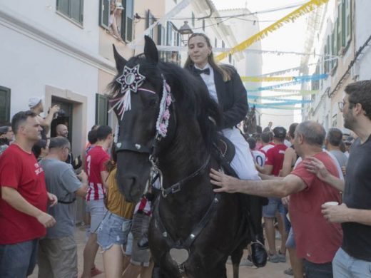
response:
[[[77,277],[77,245],[73,235],[40,240],[39,278]]]

